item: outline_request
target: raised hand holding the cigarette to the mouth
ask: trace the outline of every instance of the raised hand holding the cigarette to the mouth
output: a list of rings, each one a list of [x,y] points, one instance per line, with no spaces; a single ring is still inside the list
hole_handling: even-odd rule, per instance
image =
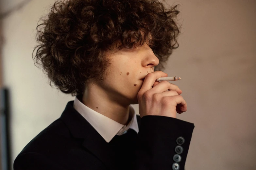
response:
[[[179,87],[168,81],[156,81],[161,77],[168,77],[168,74],[155,71],[146,75],[137,95],[141,117],[159,115],[176,118],[176,112],[187,111],[187,103],[179,95],[182,93]]]

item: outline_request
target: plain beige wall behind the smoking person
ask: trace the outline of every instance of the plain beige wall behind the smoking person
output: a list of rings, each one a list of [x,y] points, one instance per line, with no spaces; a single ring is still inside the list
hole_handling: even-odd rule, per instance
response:
[[[181,5],[182,34],[165,72],[182,78],[174,84],[188,111],[177,118],[195,123],[186,170],[255,170],[256,2],[167,2]],[[13,160],[74,99],[52,89],[32,60],[37,21],[52,3],[32,0],[3,20]]]

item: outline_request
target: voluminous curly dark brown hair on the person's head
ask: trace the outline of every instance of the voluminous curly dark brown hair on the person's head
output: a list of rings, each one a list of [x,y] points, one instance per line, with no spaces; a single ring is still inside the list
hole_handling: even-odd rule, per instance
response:
[[[75,96],[88,83],[105,78],[111,47],[130,49],[150,37],[149,47],[159,59],[155,71],[162,70],[179,47],[177,6],[166,8],[158,0],[56,1],[48,17],[39,20],[43,23],[37,26],[34,64],[42,66],[50,85],[54,82],[61,92]]]

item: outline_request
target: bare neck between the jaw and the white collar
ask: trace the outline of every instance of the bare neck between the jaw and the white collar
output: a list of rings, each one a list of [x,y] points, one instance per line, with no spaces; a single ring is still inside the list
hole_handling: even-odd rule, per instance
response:
[[[108,94],[105,90],[95,84],[86,87],[81,100],[84,105],[96,112],[107,116],[118,123],[127,125],[129,121],[130,107],[129,105],[124,106],[118,103],[118,101],[122,100],[111,96],[111,94]]]

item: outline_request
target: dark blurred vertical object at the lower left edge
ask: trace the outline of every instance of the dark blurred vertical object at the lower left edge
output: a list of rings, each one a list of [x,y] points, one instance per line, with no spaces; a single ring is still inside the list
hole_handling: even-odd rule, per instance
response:
[[[0,91],[0,130],[2,170],[11,170],[10,137],[9,137],[9,91]]]

